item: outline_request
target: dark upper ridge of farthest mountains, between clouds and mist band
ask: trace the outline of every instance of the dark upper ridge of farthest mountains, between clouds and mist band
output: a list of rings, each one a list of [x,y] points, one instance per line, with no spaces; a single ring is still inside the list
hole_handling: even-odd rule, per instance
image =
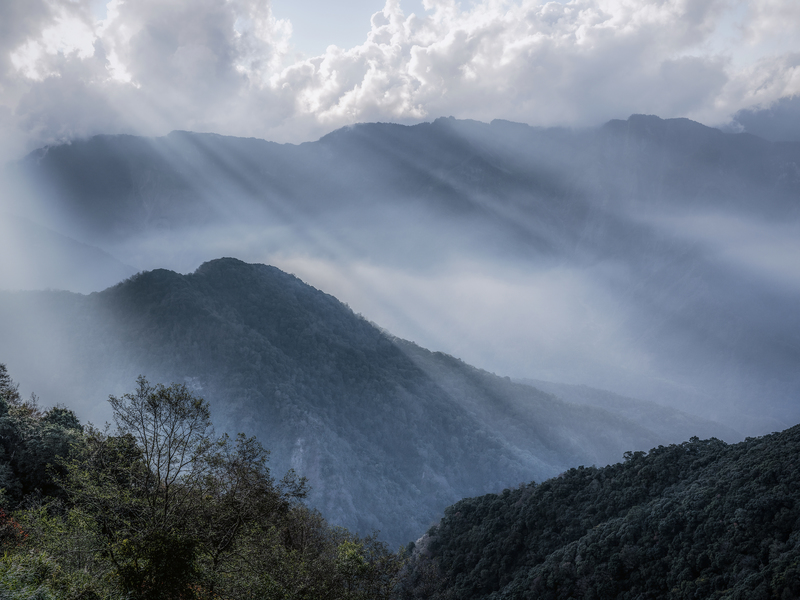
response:
[[[95,136],[36,151],[5,171],[30,210],[54,213],[95,241],[254,214],[313,220],[399,205],[488,219],[487,235],[517,220],[529,252],[564,252],[592,241],[583,229],[598,218],[612,229],[594,240],[610,247],[595,251],[628,241],[607,237],[626,224],[614,222],[623,215],[609,205],[796,218],[798,160],[800,144],[634,115],[577,131],[452,118],[367,123],[300,145],[182,131]]]

